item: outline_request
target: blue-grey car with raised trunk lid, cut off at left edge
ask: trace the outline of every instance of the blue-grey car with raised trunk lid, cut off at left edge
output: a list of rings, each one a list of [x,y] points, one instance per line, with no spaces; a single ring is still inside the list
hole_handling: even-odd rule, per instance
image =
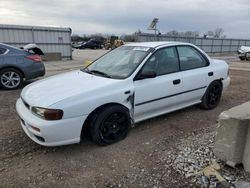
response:
[[[24,80],[45,74],[40,55],[44,55],[35,44],[22,49],[0,43],[0,87],[11,90],[22,86]]]

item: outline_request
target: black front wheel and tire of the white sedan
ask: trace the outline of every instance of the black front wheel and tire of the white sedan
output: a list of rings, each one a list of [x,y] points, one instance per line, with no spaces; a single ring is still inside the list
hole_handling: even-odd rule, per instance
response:
[[[111,105],[101,109],[93,117],[90,134],[96,144],[106,146],[123,140],[130,125],[128,110],[119,105]]]

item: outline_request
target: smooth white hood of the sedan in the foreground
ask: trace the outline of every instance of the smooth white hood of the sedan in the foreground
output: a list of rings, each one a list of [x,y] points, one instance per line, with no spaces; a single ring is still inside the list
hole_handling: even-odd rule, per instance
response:
[[[30,106],[47,108],[75,95],[91,93],[120,80],[91,75],[81,70],[52,76],[26,86],[21,98]]]

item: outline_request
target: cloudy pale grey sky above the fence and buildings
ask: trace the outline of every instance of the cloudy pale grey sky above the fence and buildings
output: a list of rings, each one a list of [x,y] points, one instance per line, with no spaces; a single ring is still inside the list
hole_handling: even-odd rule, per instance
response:
[[[171,30],[223,28],[250,39],[250,0],[0,0],[0,24],[70,27],[74,34],[131,34],[159,18]]]

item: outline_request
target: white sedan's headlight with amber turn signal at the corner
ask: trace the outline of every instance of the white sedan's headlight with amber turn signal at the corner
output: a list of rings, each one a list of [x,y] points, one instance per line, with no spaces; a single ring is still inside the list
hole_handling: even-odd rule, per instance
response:
[[[59,109],[46,109],[40,107],[32,107],[32,113],[46,120],[60,120],[63,116],[63,111]]]

